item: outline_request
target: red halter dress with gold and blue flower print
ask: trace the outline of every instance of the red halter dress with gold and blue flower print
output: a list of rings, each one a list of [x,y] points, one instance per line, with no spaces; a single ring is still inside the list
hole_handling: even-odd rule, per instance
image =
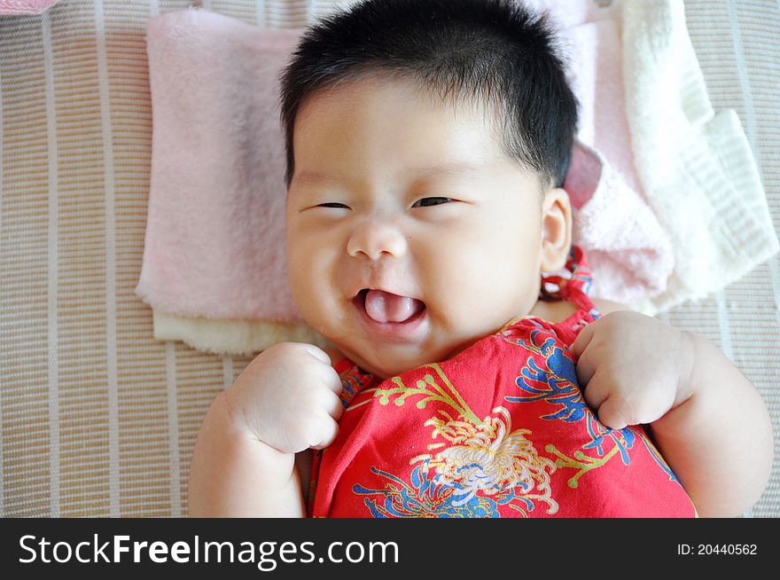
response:
[[[345,411],[317,451],[314,517],[694,517],[642,426],[611,429],[585,403],[569,346],[599,317],[585,256],[542,279],[579,309],[520,317],[456,357],[384,381],[335,364]]]

